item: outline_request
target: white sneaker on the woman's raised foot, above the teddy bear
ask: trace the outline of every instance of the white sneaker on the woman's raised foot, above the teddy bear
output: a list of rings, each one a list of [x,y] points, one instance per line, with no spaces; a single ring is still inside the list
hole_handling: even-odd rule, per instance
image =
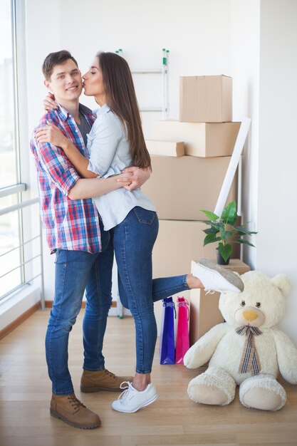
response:
[[[224,293],[244,291],[244,283],[234,272],[224,269],[209,259],[200,259],[194,269],[193,276],[204,285],[205,291],[218,291]]]

